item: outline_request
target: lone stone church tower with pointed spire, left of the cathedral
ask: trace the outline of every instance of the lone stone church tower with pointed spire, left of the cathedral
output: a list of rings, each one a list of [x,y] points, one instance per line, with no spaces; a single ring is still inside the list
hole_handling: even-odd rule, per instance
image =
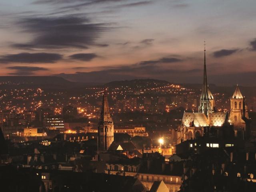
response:
[[[100,113],[100,122],[98,125],[98,149],[108,150],[113,141],[114,123],[109,112],[107,94],[104,92],[102,109]]]

